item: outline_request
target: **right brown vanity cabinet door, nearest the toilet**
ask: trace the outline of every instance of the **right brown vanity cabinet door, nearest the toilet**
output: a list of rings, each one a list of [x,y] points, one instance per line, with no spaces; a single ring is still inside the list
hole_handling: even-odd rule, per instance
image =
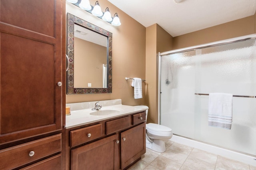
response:
[[[121,168],[146,153],[146,123],[121,133]]]

